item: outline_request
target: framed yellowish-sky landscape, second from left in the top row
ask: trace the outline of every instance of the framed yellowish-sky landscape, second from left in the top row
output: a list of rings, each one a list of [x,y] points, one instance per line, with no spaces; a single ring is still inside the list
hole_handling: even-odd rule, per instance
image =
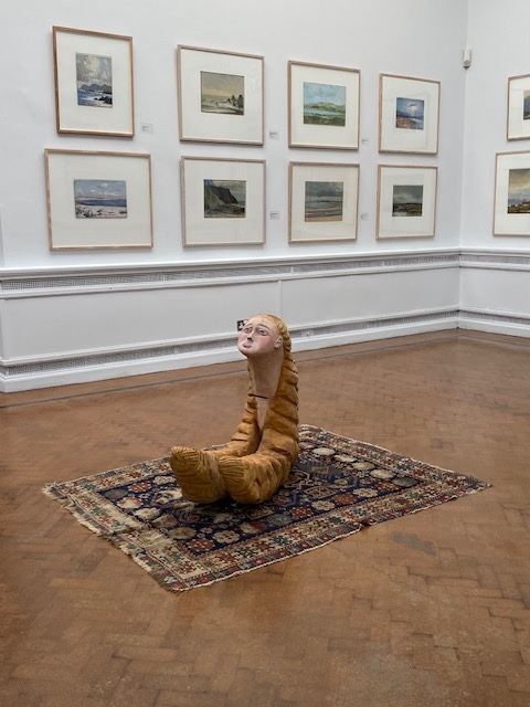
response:
[[[263,145],[263,56],[177,48],[181,140]]]

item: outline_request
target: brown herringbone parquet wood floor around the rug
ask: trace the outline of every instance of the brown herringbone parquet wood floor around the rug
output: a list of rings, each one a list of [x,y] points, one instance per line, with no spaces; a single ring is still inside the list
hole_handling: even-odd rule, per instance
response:
[[[530,705],[530,341],[296,358],[301,422],[492,487],[172,594],[41,489],[226,441],[244,362],[0,394],[0,705]]]

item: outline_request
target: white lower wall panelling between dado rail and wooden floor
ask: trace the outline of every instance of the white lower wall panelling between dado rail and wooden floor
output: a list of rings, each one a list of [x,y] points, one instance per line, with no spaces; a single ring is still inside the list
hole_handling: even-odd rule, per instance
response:
[[[0,271],[0,392],[237,361],[236,321],[259,312],[287,323],[295,354],[456,328],[529,337],[530,256]]]

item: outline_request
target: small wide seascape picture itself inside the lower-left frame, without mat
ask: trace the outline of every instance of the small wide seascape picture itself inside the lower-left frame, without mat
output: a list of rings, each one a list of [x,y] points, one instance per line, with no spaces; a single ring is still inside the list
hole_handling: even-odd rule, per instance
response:
[[[127,184],[123,179],[74,179],[76,219],[126,219]]]

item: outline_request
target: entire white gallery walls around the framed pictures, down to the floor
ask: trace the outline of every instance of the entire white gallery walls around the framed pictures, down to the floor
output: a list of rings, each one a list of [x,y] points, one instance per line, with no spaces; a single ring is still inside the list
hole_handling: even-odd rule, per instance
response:
[[[530,239],[491,232],[507,77],[530,73],[524,19],[522,0],[509,17],[494,0],[3,9],[0,390],[234,360],[236,321],[263,310],[287,321],[295,350],[457,326],[528,336]],[[134,138],[57,134],[54,25],[132,38]],[[263,146],[179,140],[179,44],[264,57]],[[289,60],[360,71],[358,150],[288,147]],[[437,155],[378,152],[380,73],[441,82]],[[51,251],[45,149],[149,154],[152,247]],[[266,161],[264,244],[182,244],[183,156]],[[359,165],[357,240],[288,242],[289,161]],[[434,238],[375,239],[379,165],[437,167]]]

